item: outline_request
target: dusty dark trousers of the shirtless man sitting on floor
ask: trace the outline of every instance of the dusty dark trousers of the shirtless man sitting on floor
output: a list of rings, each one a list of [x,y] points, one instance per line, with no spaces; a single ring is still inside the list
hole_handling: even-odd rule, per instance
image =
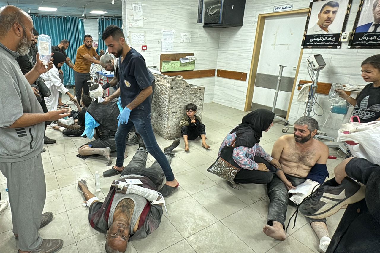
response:
[[[291,182],[293,186],[298,186],[306,181],[306,178],[296,178],[285,174],[286,178]],[[269,203],[268,219],[269,226],[273,225],[273,222],[280,222],[285,230],[286,211],[289,203],[289,193],[286,185],[273,175],[272,181],[267,184],[268,196],[271,203]],[[309,224],[312,222],[325,222],[326,219],[312,219],[307,218]]]

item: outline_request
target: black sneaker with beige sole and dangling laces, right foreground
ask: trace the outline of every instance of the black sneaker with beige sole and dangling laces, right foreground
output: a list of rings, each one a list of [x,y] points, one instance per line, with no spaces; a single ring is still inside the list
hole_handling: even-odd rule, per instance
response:
[[[335,214],[342,206],[365,198],[366,187],[351,178],[345,178],[339,186],[321,185],[298,206],[306,217],[323,219]]]

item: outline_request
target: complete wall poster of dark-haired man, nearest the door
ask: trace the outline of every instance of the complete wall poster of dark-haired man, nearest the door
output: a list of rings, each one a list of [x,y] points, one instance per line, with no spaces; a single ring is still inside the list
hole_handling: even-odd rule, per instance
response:
[[[352,0],[310,0],[302,48],[340,48]]]

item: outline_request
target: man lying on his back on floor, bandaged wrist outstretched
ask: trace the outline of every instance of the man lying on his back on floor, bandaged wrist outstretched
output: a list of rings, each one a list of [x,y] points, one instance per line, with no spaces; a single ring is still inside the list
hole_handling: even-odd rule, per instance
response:
[[[166,147],[164,154],[171,163],[172,151],[180,143],[175,140]],[[120,179],[114,180],[109,193],[100,202],[81,179],[78,186],[83,192],[89,209],[89,222],[92,228],[106,234],[106,252],[125,252],[128,241],[146,238],[158,228],[163,214],[165,174],[155,161],[146,168],[148,152],[142,138],[139,148],[129,164],[124,167]],[[138,182],[133,182],[138,181]],[[135,185],[137,183],[137,185]]]

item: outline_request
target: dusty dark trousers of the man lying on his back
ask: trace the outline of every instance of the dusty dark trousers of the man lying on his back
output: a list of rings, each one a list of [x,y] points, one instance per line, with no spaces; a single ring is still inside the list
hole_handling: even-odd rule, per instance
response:
[[[165,156],[170,164],[171,156],[168,154],[165,154]],[[120,178],[122,176],[131,174],[146,176],[150,180],[152,180],[152,182],[154,182],[154,184],[157,186],[157,190],[160,190],[166,182],[165,173],[157,161],[155,161],[149,168],[146,168],[147,157],[148,152],[146,151],[146,149],[138,148],[132,160],[123,169]]]

